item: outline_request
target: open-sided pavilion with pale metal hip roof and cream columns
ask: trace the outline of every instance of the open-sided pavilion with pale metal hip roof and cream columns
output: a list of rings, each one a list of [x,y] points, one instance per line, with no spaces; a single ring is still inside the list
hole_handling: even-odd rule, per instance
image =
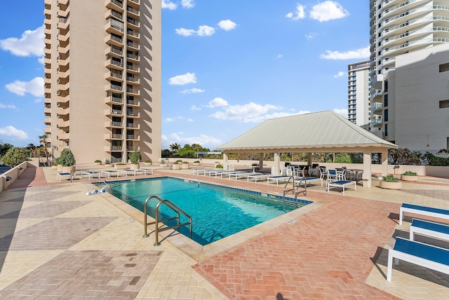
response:
[[[363,153],[363,180],[367,186],[371,186],[371,154],[381,154],[384,176],[388,172],[388,149],[398,149],[398,146],[334,111],[273,118],[217,147],[223,151],[225,165],[229,153],[258,152],[260,165],[263,164],[264,153],[274,153],[276,174],[280,172],[279,153],[307,153],[308,165],[311,165],[312,152]]]

